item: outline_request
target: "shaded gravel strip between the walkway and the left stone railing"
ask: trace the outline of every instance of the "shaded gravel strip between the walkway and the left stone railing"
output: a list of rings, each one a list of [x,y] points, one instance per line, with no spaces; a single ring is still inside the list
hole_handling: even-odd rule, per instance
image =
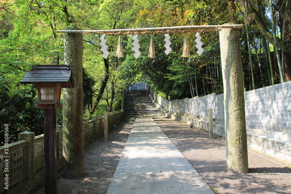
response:
[[[85,147],[85,176],[68,179],[60,175],[57,188],[60,194],[105,194],[109,188],[120,156],[134,122],[121,122],[109,132],[108,141],[96,140]],[[44,194],[44,183],[31,194]]]

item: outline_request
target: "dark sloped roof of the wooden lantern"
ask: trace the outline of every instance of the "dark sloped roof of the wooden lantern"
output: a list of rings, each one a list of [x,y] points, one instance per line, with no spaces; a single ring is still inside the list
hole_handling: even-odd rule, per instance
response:
[[[20,81],[22,84],[59,83],[62,88],[74,88],[72,69],[69,65],[36,65]]]

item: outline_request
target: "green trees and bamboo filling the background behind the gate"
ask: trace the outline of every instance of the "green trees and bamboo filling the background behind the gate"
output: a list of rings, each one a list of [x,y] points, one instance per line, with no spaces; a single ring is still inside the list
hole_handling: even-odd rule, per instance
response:
[[[253,90],[291,79],[291,6],[289,0],[0,0],[0,124],[16,133],[30,129],[42,112],[34,107],[36,91],[19,84],[26,71],[41,64],[63,63],[63,34],[57,30],[154,28],[187,25],[244,24],[240,29],[244,87]],[[84,35],[84,115],[120,109],[122,91],[146,81],[168,99],[223,92],[218,32],[188,34],[190,57],[182,58],[184,35],[171,34],[172,51],[164,53],[164,35],[155,34],[156,58],[149,58],[150,35],[139,36],[139,58],[132,35],[120,36],[123,57],[115,52],[118,37],[107,36],[109,56],[100,51],[100,36]],[[58,121],[62,122],[62,112]],[[0,137],[3,131],[0,132]]]

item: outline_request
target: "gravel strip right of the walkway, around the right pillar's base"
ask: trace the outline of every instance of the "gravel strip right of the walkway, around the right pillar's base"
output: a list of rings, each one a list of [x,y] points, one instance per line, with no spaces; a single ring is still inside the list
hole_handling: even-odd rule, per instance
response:
[[[226,172],[225,139],[209,139],[207,131],[171,119],[156,123],[187,158],[202,178],[218,193],[291,193],[290,164],[249,149],[249,173]],[[290,166],[291,167],[291,166]]]

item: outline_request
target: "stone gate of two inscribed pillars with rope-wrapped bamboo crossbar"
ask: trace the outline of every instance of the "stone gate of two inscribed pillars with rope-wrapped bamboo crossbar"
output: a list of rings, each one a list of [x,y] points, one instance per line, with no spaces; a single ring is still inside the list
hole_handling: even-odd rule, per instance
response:
[[[238,174],[249,172],[242,58],[238,33],[238,28],[242,27],[243,25],[240,24],[229,23],[210,26],[117,30],[70,28],[57,31],[64,33],[64,64],[70,65],[72,68],[75,82],[75,88],[64,88],[63,92],[64,176],[74,178],[84,175],[82,58],[83,34],[87,33],[119,36],[219,31],[224,88],[227,171]]]

